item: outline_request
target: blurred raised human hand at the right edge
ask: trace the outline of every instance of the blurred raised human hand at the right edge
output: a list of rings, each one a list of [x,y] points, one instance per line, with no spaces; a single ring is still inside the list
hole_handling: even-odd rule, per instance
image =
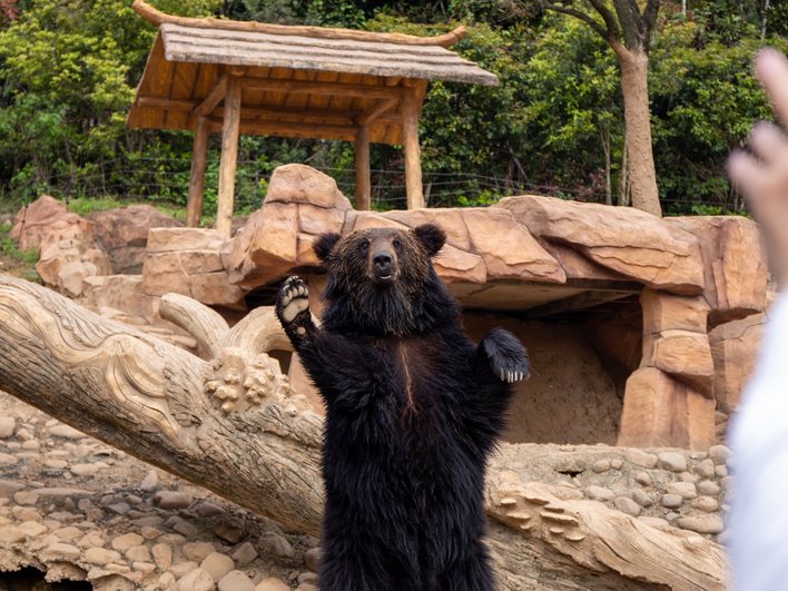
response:
[[[756,75],[766,89],[777,118],[788,126],[788,61],[772,49],[756,58]],[[761,225],[766,246],[781,288],[788,287],[788,137],[776,125],[755,126],[748,144],[751,154],[736,150],[728,159],[728,175],[747,198]]]

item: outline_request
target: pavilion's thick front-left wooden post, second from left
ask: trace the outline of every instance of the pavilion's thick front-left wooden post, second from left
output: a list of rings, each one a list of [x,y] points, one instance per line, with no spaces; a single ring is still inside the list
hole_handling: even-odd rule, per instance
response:
[[[240,129],[240,80],[230,77],[225,95],[221,122],[221,160],[219,161],[219,195],[216,207],[216,229],[229,238],[233,226],[235,169],[238,162],[238,132]]]

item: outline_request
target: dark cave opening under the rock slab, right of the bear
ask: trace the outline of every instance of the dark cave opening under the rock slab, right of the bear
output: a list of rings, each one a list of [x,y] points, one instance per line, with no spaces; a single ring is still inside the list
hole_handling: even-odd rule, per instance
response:
[[[637,295],[540,317],[465,311],[464,323],[474,339],[503,326],[529,349],[531,378],[516,385],[504,441],[615,445],[627,378],[642,356]]]

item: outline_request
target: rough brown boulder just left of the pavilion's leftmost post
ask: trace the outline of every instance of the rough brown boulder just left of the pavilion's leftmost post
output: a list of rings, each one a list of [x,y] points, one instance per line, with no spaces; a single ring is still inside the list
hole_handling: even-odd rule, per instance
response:
[[[117,274],[142,272],[150,228],[168,228],[183,224],[150,205],[132,205],[90,214],[96,239],[109,255]]]

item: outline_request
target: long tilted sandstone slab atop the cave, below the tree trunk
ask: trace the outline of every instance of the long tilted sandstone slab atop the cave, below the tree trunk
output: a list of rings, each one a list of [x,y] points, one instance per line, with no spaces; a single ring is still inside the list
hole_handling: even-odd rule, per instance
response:
[[[505,197],[498,207],[534,236],[649,287],[688,295],[703,289],[697,238],[650,214],[531,195]]]

